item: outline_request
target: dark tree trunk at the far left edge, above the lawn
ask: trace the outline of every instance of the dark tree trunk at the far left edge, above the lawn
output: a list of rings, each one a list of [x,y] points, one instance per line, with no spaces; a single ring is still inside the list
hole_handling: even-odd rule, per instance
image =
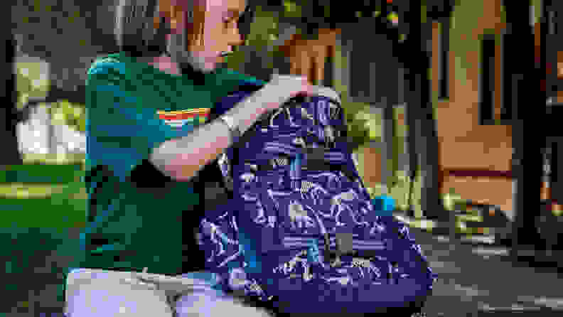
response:
[[[18,92],[16,90],[16,40],[11,33],[11,29],[4,29],[3,41],[6,50],[6,59],[2,63],[1,74],[3,74],[2,85],[0,85],[1,95],[4,104],[0,107],[0,139],[2,140],[2,154],[0,155],[0,166],[19,165],[23,163],[18,149],[18,135],[16,127],[18,124]]]

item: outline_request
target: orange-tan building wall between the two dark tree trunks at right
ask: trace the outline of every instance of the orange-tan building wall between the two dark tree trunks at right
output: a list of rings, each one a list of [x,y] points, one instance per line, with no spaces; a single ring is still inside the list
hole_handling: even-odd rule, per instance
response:
[[[438,100],[439,82],[432,80],[434,115],[440,141],[441,191],[453,188],[462,199],[498,205],[513,210],[509,178],[464,178],[449,176],[448,170],[510,171],[512,127],[480,125],[478,89],[480,39],[485,33],[500,35],[505,29],[501,0],[462,0],[456,3],[449,50],[449,100]],[[433,24],[431,76],[439,77],[439,24]],[[500,119],[500,43],[495,48],[495,119]]]

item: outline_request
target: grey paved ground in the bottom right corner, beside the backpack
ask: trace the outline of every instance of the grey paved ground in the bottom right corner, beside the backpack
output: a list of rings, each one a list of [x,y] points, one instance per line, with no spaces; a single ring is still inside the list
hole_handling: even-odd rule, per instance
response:
[[[563,316],[563,274],[556,270],[513,265],[508,249],[452,243],[411,230],[439,274],[424,308],[427,316],[493,316],[493,308],[524,311],[518,316]]]

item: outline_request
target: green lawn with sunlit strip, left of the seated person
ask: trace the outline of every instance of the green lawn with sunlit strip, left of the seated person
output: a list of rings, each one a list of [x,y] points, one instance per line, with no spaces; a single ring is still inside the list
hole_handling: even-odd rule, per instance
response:
[[[83,156],[24,156],[23,165],[0,169],[2,290],[11,294],[6,306],[21,307],[25,316],[64,301],[64,274],[85,225],[83,163]]]

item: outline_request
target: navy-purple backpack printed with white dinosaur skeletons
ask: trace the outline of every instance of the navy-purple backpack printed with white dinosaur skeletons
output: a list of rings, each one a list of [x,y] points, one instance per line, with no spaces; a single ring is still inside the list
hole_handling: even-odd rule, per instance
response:
[[[242,85],[209,120],[259,88]],[[345,131],[327,90],[264,114],[219,157],[230,199],[205,210],[198,235],[218,287],[286,313],[419,309],[436,275],[408,227],[370,200]]]

